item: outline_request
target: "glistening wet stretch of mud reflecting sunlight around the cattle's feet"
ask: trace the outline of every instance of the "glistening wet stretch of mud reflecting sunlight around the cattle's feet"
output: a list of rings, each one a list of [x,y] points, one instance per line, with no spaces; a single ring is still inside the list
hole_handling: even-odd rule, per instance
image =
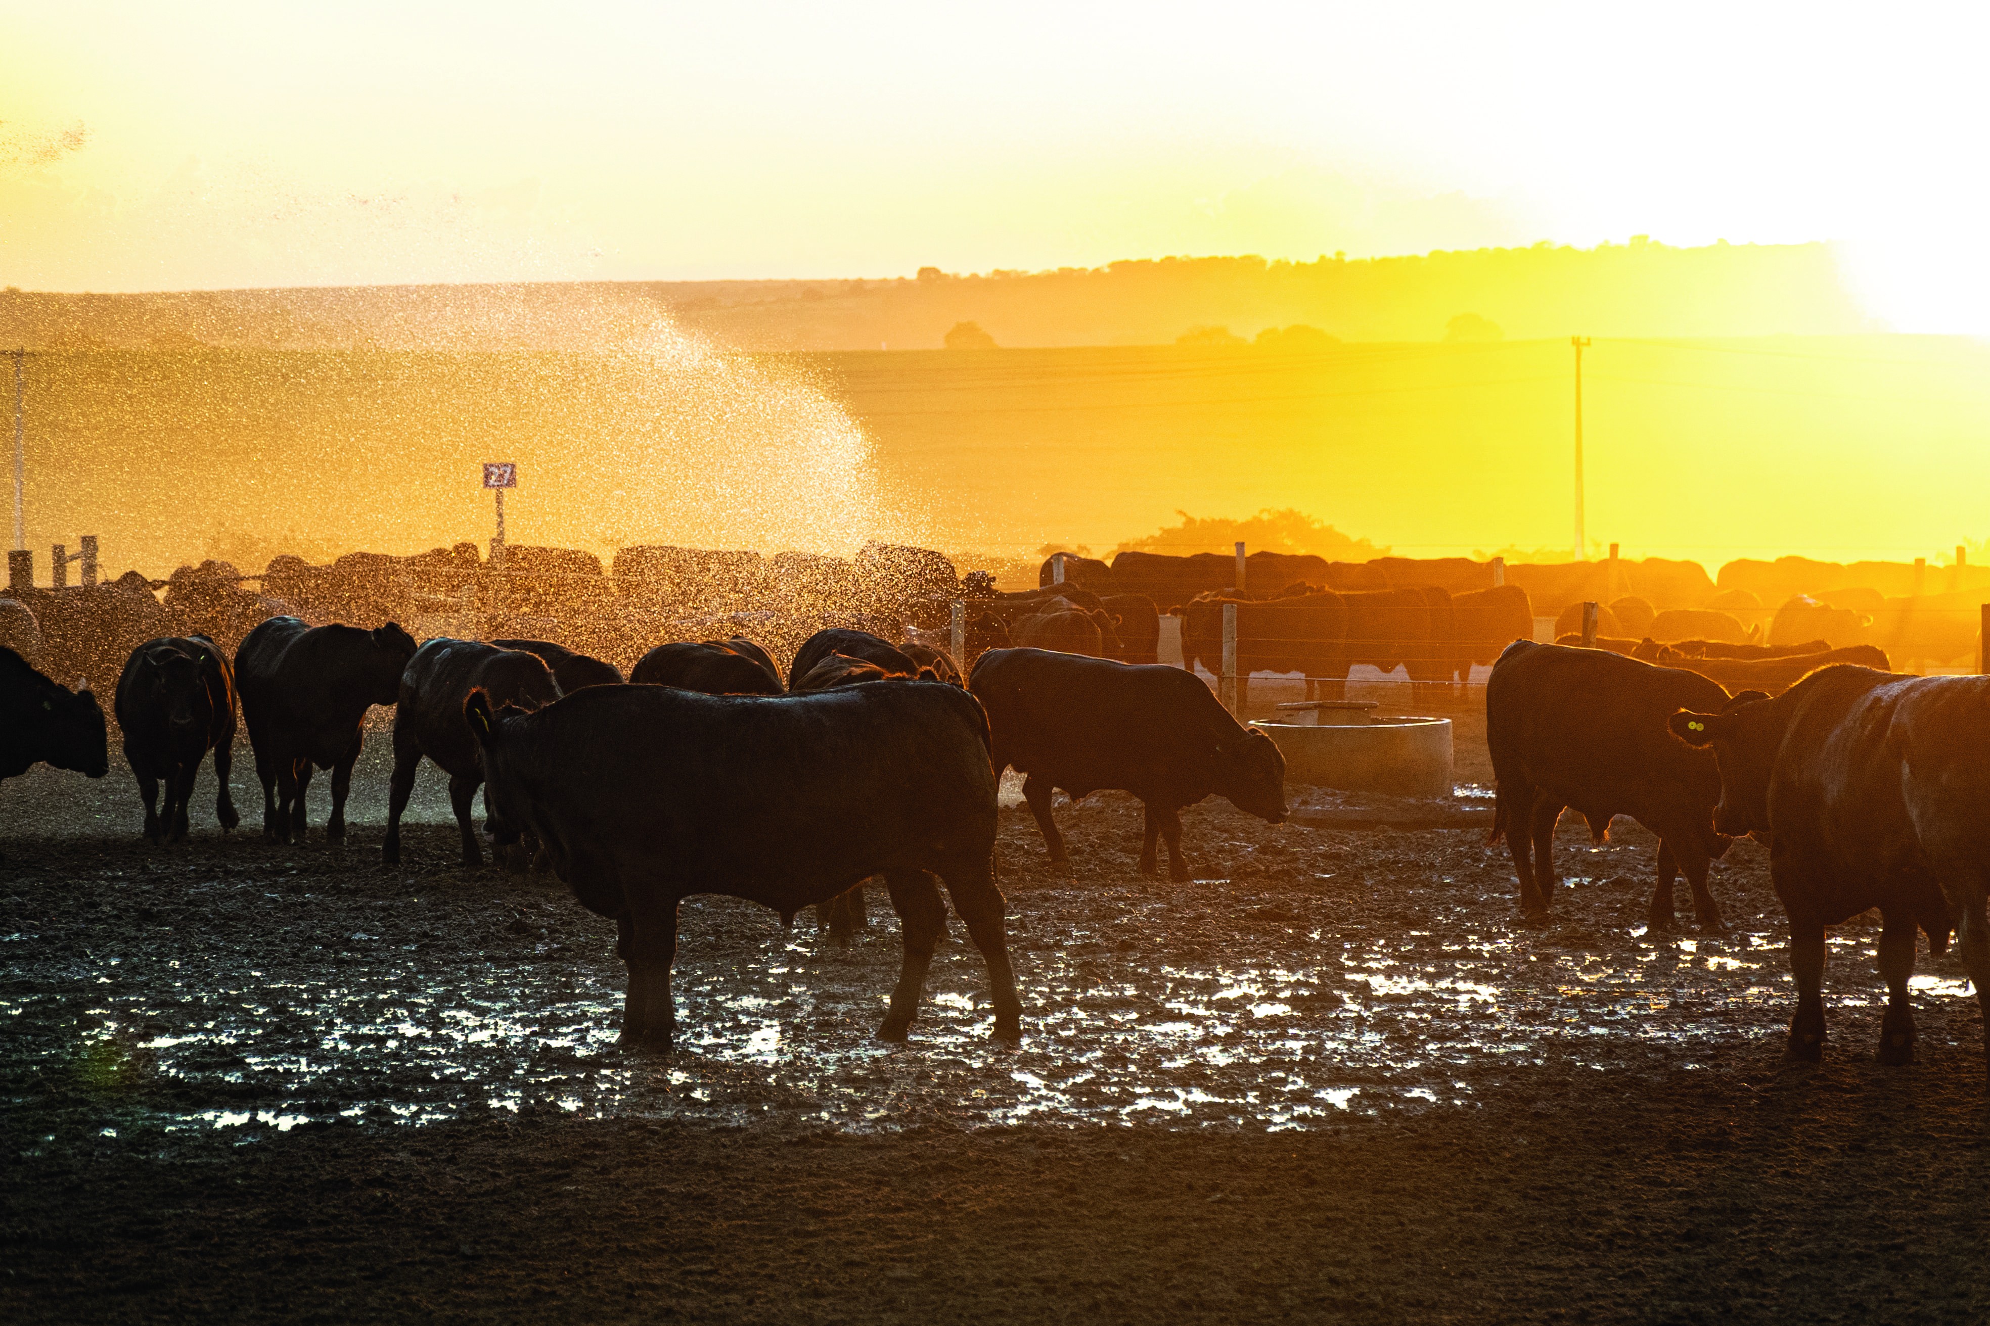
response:
[[[848,952],[806,916],[782,930],[744,903],[687,903],[679,1050],[659,1056],[617,1044],[613,926],[545,883],[438,869],[416,885],[364,845],[195,843],[171,869],[80,845],[88,879],[8,895],[6,1095],[70,1089],[105,1129],[245,1139],[492,1111],[1276,1129],[1469,1109],[1546,1056],[1608,1074],[1664,1042],[1692,1066],[1781,1040],[1789,1018],[1751,845],[1715,873],[1731,930],[1652,934],[1652,843],[1634,827],[1598,849],[1566,835],[1558,918],[1530,928],[1504,851],[1471,833],[1280,831],[1198,807],[1200,879],[1168,885],[1128,869],[1134,807],[1059,815],[1075,881],[1043,873],[1027,813],[1003,817],[1019,1050],[987,1040],[981,958],[957,922],[913,1042],[872,1038],[897,972],[876,893]],[[430,835],[438,861],[454,853],[454,831]],[[1831,938],[1841,1048],[1867,1034],[1855,1010],[1875,1022],[1885,1004],[1875,938],[1861,924]],[[1918,1000],[1968,992],[1952,960],[1920,966]]]

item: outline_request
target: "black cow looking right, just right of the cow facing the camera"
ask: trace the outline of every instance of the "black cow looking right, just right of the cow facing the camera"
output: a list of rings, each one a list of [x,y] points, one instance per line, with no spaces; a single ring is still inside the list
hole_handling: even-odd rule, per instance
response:
[[[273,616],[235,650],[235,690],[263,781],[263,837],[304,837],[304,791],[310,769],[332,771],[328,843],[346,837],[352,763],[366,740],[360,724],[376,704],[400,698],[400,674],[414,658],[414,638],[398,624],[306,626]]]

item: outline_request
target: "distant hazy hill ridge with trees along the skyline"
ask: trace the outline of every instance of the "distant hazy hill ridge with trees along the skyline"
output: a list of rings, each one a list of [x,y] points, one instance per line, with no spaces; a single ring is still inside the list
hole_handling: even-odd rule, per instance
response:
[[[929,350],[973,322],[997,346],[1172,344],[1309,326],[1341,340],[1837,336],[1877,330],[1829,245],[1479,249],[1401,258],[1156,258],[892,280],[358,286],[173,294],[0,292],[0,346],[484,348],[523,308],[653,306],[738,350]],[[557,338],[555,338],[557,340]],[[515,342],[507,342],[515,344]],[[579,346],[569,346],[579,348]]]

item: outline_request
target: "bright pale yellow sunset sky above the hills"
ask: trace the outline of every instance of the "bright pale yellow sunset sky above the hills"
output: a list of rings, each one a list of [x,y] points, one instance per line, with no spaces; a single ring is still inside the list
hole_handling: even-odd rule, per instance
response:
[[[0,282],[892,276],[1648,233],[1990,332],[1918,6],[0,4]]]

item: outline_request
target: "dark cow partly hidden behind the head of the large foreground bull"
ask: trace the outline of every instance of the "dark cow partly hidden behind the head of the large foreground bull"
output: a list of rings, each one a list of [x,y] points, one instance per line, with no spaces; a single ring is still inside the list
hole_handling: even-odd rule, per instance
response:
[[[386,841],[380,859],[400,865],[400,815],[414,793],[422,755],[450,775],[450,809],[464,835],[464,865],[484,865],[478,833],[470,825],[470,803],[484,785],[478,742],[464,724],[464,702],[482,690],[492,704],[523,710],[559,700],[559,682],[545,660],[527,650],[507,650],[478,640],[428,640],[400,674],[394,704],[394,777],[388,783]]]

